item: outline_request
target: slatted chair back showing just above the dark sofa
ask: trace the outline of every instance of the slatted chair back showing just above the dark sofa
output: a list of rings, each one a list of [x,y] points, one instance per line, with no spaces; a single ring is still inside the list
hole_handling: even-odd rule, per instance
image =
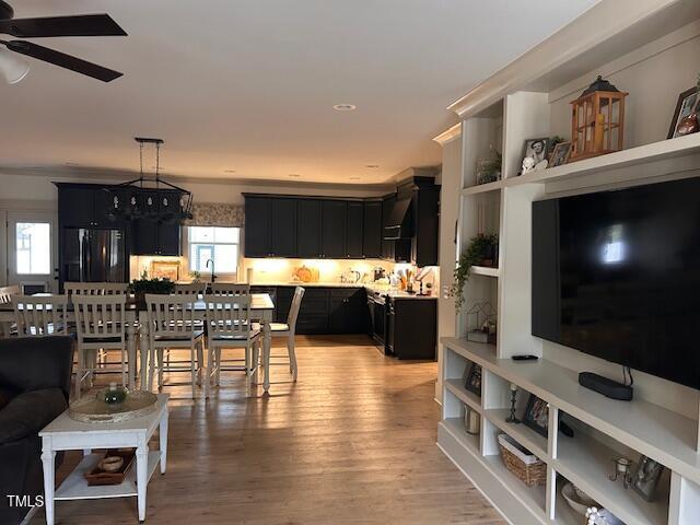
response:
[[[68,334],[66,295],[15,295],[12,298],[12,304],[20,335]]]

